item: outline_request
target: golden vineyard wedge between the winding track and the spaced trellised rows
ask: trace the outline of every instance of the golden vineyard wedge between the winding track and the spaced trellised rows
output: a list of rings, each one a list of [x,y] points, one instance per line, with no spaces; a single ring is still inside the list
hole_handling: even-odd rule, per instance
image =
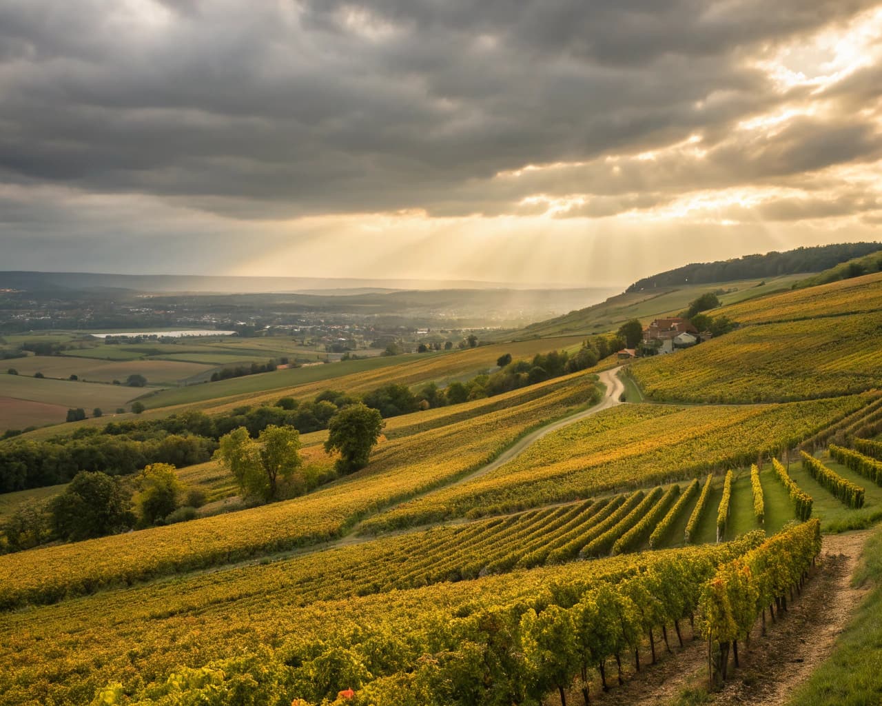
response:
[[[759,454],[796,447],[864,402],[841,397],[737,408],[620,406],[549,434],[486,476],[378,514],[363,530],[510,512],[749,465]]]

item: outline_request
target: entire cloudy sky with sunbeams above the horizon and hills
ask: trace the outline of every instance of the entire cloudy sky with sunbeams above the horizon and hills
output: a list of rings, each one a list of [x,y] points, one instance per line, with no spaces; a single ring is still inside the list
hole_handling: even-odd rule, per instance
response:
[[[0,0],[0,270],[627,284],[882,240],[882,4]]]

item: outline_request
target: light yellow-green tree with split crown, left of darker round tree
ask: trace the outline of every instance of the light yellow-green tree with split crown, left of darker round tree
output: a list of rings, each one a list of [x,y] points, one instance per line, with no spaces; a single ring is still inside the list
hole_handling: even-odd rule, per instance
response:
[[[293,426],[267,426],[251,439],[240,426],[221,437],[215,457],[229,469],[243,495],[271,500],[279,491],[279,478],[290,479],[300,468],[300,433]]]

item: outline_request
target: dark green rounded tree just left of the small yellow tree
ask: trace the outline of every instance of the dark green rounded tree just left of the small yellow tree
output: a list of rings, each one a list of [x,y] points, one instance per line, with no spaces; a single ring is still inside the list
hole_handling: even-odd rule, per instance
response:
[[[81,470],[63,493],[49,502],[59,537],[77,541],[131,528],[131,499],[118,478],[101,471]]]

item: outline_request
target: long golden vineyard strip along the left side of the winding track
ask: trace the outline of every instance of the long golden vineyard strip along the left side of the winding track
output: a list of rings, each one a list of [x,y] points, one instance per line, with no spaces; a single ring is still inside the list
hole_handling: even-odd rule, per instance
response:
[[[340,537],[359,517],[478,468],[535,424],[596,400],[591,379],[579,380],[532,402],[389,440],[377,447],[368,468],[303,498],[2,556],[0,575],[9,578],[0,584],[0,607],[55,602]]]

